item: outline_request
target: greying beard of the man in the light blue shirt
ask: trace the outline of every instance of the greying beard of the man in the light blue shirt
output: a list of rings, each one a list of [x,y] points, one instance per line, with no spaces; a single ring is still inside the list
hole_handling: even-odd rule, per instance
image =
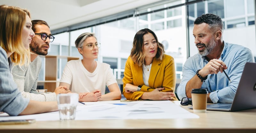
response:
[[[211,39],[207,46],[203,43],[198,43],[198,44],[196,44],[196,46],[204,46],[205,49],[199,50],[198,53],[202,56],[206,56],[212,52],[212,50],[216,46],[216,43],[215,43],[214,39]]]

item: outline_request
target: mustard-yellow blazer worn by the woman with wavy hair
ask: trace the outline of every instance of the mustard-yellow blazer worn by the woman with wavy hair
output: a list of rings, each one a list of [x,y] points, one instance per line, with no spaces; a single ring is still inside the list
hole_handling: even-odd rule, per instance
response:
[[[135,64],[129,56],[125,68],[123,78],[123,94],[126,99],[139,100],[144,92],[151,92],[155,88],[164,88],[163,92],[174,92],[176,85],[176,74],[174,59],[170,55],[164,54],[163,60],[153,59],[151,71],[149,74],[148,84],[144,85],[143,68]],[[127,83],[135,86],[141,85],[141,90],[136,92],[126,93],[124,87]],[[176,97],[173,100],[177,100]]]

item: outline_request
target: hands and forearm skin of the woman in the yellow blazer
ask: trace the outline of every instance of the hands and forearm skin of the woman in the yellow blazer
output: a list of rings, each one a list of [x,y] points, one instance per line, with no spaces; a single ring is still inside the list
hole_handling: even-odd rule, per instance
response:
[[[124,90],[126,93],[130,93],[130,92],[135,92],[137,91],[138,86],[134,86],[132,84],[125,84]],[[155,88],[153,91],[151,92],[144,92],[143,95],[140,97],[141,99],[143,99],[144,94],[145,94],[145,99],[149,99],[149,100],[172,100],[172,97],[176,97],[175,94],[173,92],[161,92],[161,90],[164,90],[164,88]]]

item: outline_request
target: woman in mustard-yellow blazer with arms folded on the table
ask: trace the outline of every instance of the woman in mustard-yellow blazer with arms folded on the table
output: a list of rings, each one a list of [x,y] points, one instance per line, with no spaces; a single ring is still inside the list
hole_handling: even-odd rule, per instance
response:
[[[123,94],[129,100],[177,100],[172,56],[149,29],[138,31],[124,68]]]

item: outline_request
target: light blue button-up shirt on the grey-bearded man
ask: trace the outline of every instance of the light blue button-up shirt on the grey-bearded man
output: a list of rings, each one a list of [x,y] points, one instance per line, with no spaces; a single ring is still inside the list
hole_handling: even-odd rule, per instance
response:
[[[213,103],[232,103],[236,94],[236,89],[240,81],[244,65],[246,62],[254,62],[254,58],[250,49],[224,42],[224,48],[220,59],[228,67],[225,70],[231,82],[224,73],[210,74],[203,82],[201,88],[207,88],[210,93],[210,99]],[[177,94],[179,99],[186,96],[187,82],[196,75],[198,69],[202,69],[208,61],[200,54],[196,54],[185,62],[182,70],[182,79]]]

